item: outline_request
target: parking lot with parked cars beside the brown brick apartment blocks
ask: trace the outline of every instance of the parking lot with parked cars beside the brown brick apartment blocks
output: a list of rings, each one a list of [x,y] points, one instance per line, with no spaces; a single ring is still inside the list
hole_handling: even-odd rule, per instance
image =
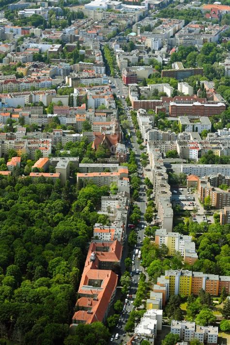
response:
[[[171,192],[172,199],[177,199],[172,201],[173,206],[179,204],[183,210],[195,211],[194,213],[191,212],[193,222],[198,224],[201,222],[214,223],[213,215],[206,216],[205,210],[199,202],[198,194],[193,193],[191,188],[172,188]]]

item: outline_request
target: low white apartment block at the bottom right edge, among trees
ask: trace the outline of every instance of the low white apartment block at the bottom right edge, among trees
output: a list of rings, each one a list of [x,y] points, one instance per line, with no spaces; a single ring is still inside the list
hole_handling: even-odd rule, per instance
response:
[[[185,342],[197,339],[200,343],[217,344],[218,340],[218,327],[199,326],[189,321],[172,320],[171,333],[178,334]]]

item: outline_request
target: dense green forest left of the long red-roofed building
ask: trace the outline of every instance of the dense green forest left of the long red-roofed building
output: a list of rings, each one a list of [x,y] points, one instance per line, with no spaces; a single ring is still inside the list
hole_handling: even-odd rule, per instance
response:
[[[68,333],[86,245],[107,193],[107,186],[76,189],[68,181],[61,187],[44,178],[0,177],[2,338],[26,345],[61,345],[65,338],[66,345],[106,344],[109,334],[100,323],[90,332],[82,325],[80,342]]]

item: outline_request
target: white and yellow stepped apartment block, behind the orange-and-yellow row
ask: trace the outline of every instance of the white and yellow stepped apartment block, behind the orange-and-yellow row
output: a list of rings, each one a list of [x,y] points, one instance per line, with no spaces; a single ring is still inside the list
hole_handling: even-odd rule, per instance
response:
[[[158,229],[155,233],[155,244],[159,247],[162,247],[164,244],[168,248],[168,256],[173,256],[176,252],[180,252],[185,263],[193,264],[198,259],[192,236]]]

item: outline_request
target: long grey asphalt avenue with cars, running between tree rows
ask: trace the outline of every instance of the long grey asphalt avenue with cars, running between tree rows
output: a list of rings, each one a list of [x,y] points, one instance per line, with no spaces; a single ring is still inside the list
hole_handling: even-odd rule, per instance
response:
[[[119,78],[112,78],[112,77],[110,77],[109,79],[116,86],[113,89],[115,94],[120,95],[120,97],[122,95],[124,95],[126,98],[128,96],[128,88],[122,84],[121,80]],[[138,249],[138,250],[141,249],[142,242],[144,239],[144,228],[142,228],[142,226],[146,225],[146,222],[144,221],[144,214],[145,214],[145,210],[146,210],[147,198],[146,198],[146,192],[144,190],[144,177],[142,176],[143,175],[143,168],[140,164],[141,151],[139,149],[139,145],[136,142],[137,138],[136,138],[136,134],[135,134],[135,131],[133,128],[131,117],[129,116],[129,110],[128,110],[126,101],[125,101],[125,99],[121,99],[121,100],[122,100],[122,103],[124,105],[124,109],[127,112],[128,119],[130,121],[132,142],[127,146],[130,147],[135,152],[136,160],[137,160],[137,164],[138,164],[138,175],[141,178],[140,197],[136,201],[137,205],[140,207],[140,210],[141,210],[141,220],[140,220],[140,223],[139,223],[139,226],[137,229],[137,234],[138,234],[137,245],[136,245],[136,248],[134,248],[134,250],[133,250],[133,254],[135,255],[135,249]],[[123,257],[122,257],[122,263],[121,263],[122,272],[123,272],[123,268],[124,268],[124,260],[127,257],[127,255],[128,255],[128,246],[126,243],[124,250],[123,250]],[[132,298],[128,298],[128,303],[124,304],[124,309],[123,309],[123,312],[121,313],[119,322],[113,330],[113,334],[112,334],[113,340],[110,341],[110,344],[121,344],[121,343],[126,344],[126,342],[130,338],[128,336],[128,334],[126,334],[124,328],[125,328],[125,325],[126,325],[128,318],[129,318],[129,314],[133,309],[132,301],[135,298],[136,290],[138,287],[138,281],[139,281],[140,276],[139,276],[139,274],[136,273],[137,270],[143,271],[143,267],[140,264],[140,260],[138,260],[138,256],[135,255],[134,264],[131,266],[131,269],[130,269],[130,272],[132,275],[132,277],[131,277],[132,281],[131,281],[131,287],[130,287],[129,295],[132,295]],[[118,339],[115,339],[116,333],[118,333]]]

